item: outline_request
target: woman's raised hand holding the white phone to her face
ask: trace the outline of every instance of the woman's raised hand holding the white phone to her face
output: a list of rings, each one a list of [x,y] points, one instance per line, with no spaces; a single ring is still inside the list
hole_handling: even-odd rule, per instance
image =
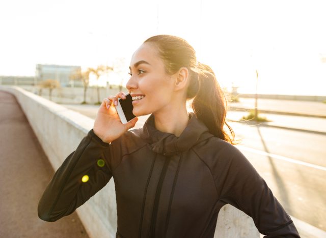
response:
[[[118,98],[126,99],[123,92],[116,96],[104,98],[94,122],[93,131],[105,143],[111,143],[119,138],[124,132],[134,127],[138,117],[133,118],[130,122],[122,124],[114,106],[118,105]]]

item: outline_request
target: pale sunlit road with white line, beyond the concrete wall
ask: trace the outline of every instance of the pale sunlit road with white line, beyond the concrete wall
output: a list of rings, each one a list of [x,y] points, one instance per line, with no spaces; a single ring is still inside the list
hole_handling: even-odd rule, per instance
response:
[[[93,119],[98,106],[63,105]],[[228,114],[232,112],[228,112]],[[147,116],[139,117],[141,127]],[[236,145],[293,217],[326,230],[326,136],[228,122]]]

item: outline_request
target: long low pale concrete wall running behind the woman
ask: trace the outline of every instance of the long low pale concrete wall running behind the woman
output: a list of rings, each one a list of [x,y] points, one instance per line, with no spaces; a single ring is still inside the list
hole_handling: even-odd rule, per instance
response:
[[[15,95],[34,130],[53,169],[57,170],[67,156],[93,128],[94,120],[78,112],[25,91],[17,86],[0,86]],[[90,237],[115,237],[117,207],[113,179],[77,213]],[[253,220],[231,205],[222,208],[214,237],[259,237]]]

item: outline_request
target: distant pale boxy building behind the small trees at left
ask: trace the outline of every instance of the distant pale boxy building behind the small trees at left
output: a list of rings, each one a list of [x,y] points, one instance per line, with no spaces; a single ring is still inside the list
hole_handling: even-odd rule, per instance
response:
[[[38,81],[55,79],[63,87],[83,86],[82,81],[73,81],[70,77],[75,71],[80,71],[80,66],[68,65],[36,65],[35,77]]]

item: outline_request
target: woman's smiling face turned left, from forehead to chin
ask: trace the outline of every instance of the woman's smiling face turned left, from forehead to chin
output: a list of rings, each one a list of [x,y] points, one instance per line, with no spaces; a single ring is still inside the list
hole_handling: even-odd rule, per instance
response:
[[[166,73],[164,63],[152,43],[144,43],[132,55],[130,79],[126,84],[133,97],[136,116],[169,110],[174,93],[174,80]]]

